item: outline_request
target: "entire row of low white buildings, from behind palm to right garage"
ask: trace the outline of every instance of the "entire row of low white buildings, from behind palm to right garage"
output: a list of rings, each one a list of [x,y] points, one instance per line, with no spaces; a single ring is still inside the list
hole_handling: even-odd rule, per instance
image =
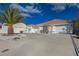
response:
[[[17,23],[13,25],[14,33],[72,33],[72,23],[67,20],[50,20],[37,25],[26,25]],[[0,28],[0,33],[8,33],[8,26],[4,23]]]

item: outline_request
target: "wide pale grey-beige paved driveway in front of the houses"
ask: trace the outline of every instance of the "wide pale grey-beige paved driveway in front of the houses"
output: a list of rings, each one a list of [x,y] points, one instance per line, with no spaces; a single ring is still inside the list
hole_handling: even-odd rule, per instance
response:
[[[19,41],[19,42],[18,42]],[[4,42],[4,41],[3,41]],[[68,34],[26,34],[23,39],[2,43],[9,51],[0,55],[10,56],[75,56],[75,50]],[[16,43],[15,43],[16,42]],[[2,50],[0,50],[2,51]]]

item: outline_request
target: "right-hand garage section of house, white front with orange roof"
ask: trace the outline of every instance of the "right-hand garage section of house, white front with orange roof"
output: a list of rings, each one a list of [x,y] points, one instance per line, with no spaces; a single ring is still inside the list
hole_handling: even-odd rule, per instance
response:
[[[48,21],[49,33],[70,33],[72,32],[71,25],[67,20]]]

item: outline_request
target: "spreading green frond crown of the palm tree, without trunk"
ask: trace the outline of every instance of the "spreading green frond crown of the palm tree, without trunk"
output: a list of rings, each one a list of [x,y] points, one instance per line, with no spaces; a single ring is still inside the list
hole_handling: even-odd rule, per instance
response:
[[[7,24],[15,24],[18,22],[21,22],[22,19],[24,18],[18,9],[12,9],[9,8],[7,10],[5,10],[4,12],[2,12],[2,18]]]

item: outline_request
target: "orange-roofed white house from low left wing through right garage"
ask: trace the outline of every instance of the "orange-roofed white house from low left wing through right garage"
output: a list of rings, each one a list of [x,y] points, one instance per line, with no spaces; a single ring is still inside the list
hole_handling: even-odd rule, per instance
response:
[[[40,25],[32,25],[33,33],[72,33],[72,23],[67,20],[50,20]]]

